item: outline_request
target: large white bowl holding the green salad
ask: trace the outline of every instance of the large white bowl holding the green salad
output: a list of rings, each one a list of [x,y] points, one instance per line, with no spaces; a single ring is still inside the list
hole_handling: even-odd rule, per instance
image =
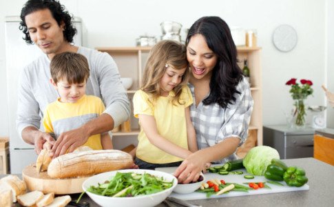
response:
[[[149,173],[156,177],[163,177],[166,181],[173,181],[173,186],[166,190],[154,193],[151,195],[142,195],[138,197],[107,197],[102,195],[96,195],[94,193],[87,192],[87,188],[90,186],[98,186],[109,180],[110,177],[116,175],[116,172],[134,172],[137,174]],[[178,180],[173,175],[167,172],[160,172],[156,170],[140,170],[140,169],[127,169],[127,170],[115,170],[112,172],[103,172],[98,175],[94,175],[83,182],[83,190],[87,195],[100,206],[156,206],[160,204],[167,196],[171,194],[171,191],[178,184]]]

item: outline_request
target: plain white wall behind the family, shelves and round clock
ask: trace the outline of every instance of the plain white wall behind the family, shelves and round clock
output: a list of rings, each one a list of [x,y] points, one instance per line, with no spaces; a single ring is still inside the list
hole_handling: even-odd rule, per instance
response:
[[[217,15],[229,26],[256,28],[262,47],[263,121],[284,124],[284,110],[292,106],[289,87],[292,77],[311,79],[314,95],[310,105],[324,105],[320,86],[325,81],[326,1],[328,0],[62,0],[74,16],[83,19],[84,45],[135,46],[142,34],[160,38],[160,22],[178,21],[189,28],[204,15]],[[25,1],[0,2],[0,20],[19,15]],[[333,4],[333,3],[332,3]],[[331,10],[334,13],[333,9]],[[289,24],[298,32],[298,44],[291,52],[279,52],[271,36],[280,24]],[[182,33],[184,35],[184,33]],[[184,39],[184,37],[183,37]],[[0,97],[6,97],[6,64],[3,23],[0,24]],[[333,73],[332,73],[333,74]],[[334,90],[334,87],[333,87]],[[0,103],[0,136],[8,135],[6,101]]]

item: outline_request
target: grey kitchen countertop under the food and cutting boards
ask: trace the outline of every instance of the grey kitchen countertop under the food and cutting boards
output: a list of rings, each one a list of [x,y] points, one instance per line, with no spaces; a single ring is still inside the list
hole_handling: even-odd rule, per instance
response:
[[[201,199],[188,202],[201,206],[333,206],[334,166],[312,157],[284,159],[284,162],[288,166],[295,165],[305,169],[306,176],[309,177],[309,182],[307,183],[310,187],[309,190],[220,199]],[[0,175],[0,177],[3,176],[5,175]],[[75,199],[79,197],[79,194],[71,195],[71,197]],[[83,197],[82,201],[89,201],[90,206],[98,206],[87,195]],[[163,207],[165,205],[159,204],[158,206]]]

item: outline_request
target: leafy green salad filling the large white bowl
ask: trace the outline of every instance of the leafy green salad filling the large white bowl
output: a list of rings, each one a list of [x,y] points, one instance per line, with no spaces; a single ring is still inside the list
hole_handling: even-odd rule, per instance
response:
[[[98,186],[90,186],[88,192],[109,197],[135,197],[149,195],[171,188],[173,181],[165,181],[148,173],[116,172],[116,175]]]

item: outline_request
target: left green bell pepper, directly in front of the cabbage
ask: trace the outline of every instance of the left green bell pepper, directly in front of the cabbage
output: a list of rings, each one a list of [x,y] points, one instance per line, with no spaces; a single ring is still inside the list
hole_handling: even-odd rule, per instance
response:
[[[288,167],[280,159],[271,159],[271,164],[267,166],[264,177],[274,181],[283,181],[283,175]]]

